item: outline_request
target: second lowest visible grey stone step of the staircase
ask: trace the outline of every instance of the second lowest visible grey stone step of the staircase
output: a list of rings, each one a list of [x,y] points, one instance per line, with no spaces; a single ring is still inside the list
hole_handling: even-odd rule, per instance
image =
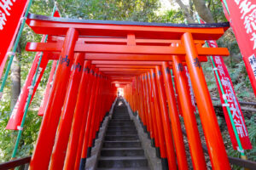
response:
[[[144,156],[142,148],[103,148],[101,156]]]

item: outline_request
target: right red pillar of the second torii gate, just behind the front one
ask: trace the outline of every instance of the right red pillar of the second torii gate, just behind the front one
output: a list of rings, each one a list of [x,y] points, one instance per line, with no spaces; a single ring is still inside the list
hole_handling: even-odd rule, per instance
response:
[[[207,169],[205,156],[201,147],[201,138],[197,128],[195,113],[190,98],[189,82],[184,70],[178,69],[178,65],[182,65],[180,59],[173,55],[173,72],[175,82],[177,83],[177,94],[180,97],[181,110],[183,112],[183,121],[186,128],[189,150],[195,169]]]

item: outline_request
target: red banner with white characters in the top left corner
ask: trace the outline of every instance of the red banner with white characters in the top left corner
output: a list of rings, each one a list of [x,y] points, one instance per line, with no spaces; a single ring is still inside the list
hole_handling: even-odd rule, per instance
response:
[[[8,58],[7,52],[12,48],[16,33],[19,30],[20,18],[24,14],[27,0],[0,1],[0,76]]]

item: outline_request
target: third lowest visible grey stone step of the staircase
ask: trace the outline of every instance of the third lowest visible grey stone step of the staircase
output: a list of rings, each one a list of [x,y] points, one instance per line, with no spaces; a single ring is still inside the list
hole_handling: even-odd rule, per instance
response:
[[[139,140],[104,141],[102,148],[138,148],[142,144]]]

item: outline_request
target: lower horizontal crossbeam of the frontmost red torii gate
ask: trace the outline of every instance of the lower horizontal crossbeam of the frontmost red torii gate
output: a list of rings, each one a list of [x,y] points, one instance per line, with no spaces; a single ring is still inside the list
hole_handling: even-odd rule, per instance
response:
[[[60,52],[61,42],[27,42],[26,51],[44,51],[44,52]],[[227,48],[202,48],[196,47],[199,55],[230,55]],[[184,47],[166,47],[166,46],[127,46],[127,45],[106,45],[106,44],[80,44],[77,43],[74,52],[76,53],[101,53],[101,54],[155,54],[155,55],[185,55]],[[86,55],[85,59],[90,59],[90,55]],[[94,56],[96,59],[96,56]],[[104,56],[97,55],[97,59],[104,59]],[[129,59],[129,58],[128,58]],[[148,59],[150,57],[148,56]],[[124,59],[125,60],[125,59]],[[129,59],[131,60],[131,59]],[[137,59],[135,59],[137,60]],[[145,59],[143,59],[145,60]],[[157,59],[156,59],[157,60]],[[163,59],[158,59],[163,60]]]

